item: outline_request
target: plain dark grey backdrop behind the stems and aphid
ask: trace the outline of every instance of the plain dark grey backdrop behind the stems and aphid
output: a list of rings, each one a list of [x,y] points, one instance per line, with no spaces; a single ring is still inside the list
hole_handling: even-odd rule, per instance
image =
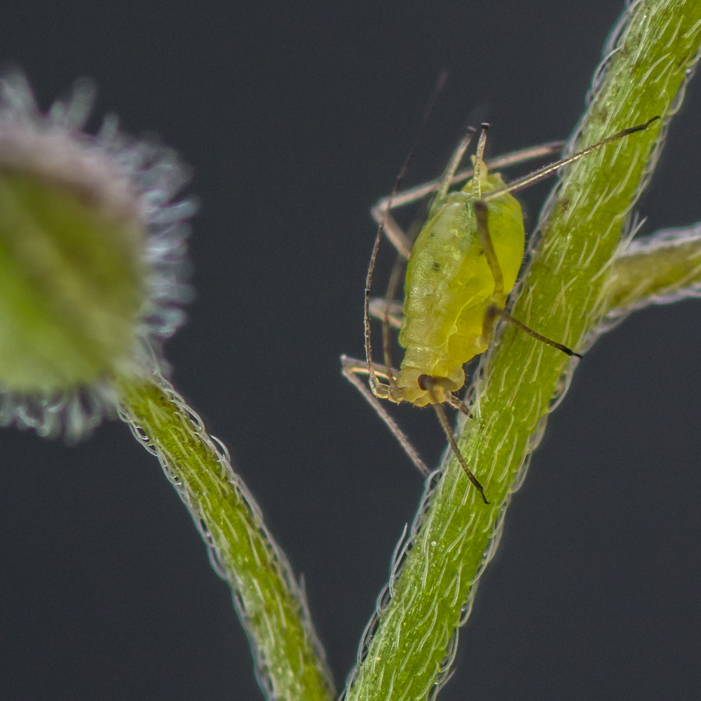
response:
[[[362,353],[369,205],[465,120],[492,154],[564,138],[620,11],[610,0],[6,3],[0,58],[44,108],[89,75],[97,111],[196,172],[198,300],[175,383],[231,449],[304,572],[339,686],[421,494],[339,374]],[[644,231],[701,219],[692,86]],[[95,121],[97,123],[97,121]],[[524,193],[532,227],[547,186]],[[379,273],[380,275],[382,274]],[[442,699],[688,697],[700,686],[701,306],[639,313],[587,353],[515,498]],[[435,418],[398,416],[434,463]],[[261,697],[229,591],[155,459],[119,424],[78,447],[0,432],[0,697]]]

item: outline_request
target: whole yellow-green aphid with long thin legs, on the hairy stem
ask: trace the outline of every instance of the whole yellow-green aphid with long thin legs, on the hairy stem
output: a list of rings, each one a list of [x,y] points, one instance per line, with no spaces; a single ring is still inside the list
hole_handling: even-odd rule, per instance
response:
[[[521,207],[511,193],[538,182],[563,165],[577,161],[605,144],[644,130],[655,119],[658,117],[618,132],[508,185],[504,184],[498,173],[490,174],[484,163],[488,125],[483,124],[477,153],[473,157],[473,169],[469,173],[472,177],[461,190],[449,192],[449,186],[458,179],[465,179],[465,173],[456,175],[456,170],[468,148],[471,133],[463,138],[451,156],[440,180],[400,195],[393,193],[393,196],[381,200],[374,208],[379,231],[369,264],[365,290],[367,363],[343,358],[343,371],[373,404],[422,471],[426,468],[416,451],[411,448],[402,432],[374,397],[396,403],[411,402],[418,407],[433,405],[463,469],[482,495],[484,502],[489,503],[482,484],[472,474],[458,450],[442,408],[447,402],[468,413],[463,402],[454,394],[465,384],[463,365],[475,355],[486,351],[491,343],[494,322],[500,316],[515,323],[539,341],[559,348],[568,355],[578,355],[562,343],[540,336],[504,309],[508,294],[517,280],[525,245]],[[552,150],[553,144],[526,149],[502,159],[499,165],[525,161]],[[407,237],[391,217],[390,209],[426,196],[431,191],[435,191],[436,194],[428,218],[411,247],[411,254],[408,254]],[[369,298],[372,272],[383,232],[392,240],[397,250],[409,259],[404,282],[401,322],[397,320],[397,315],[393,314],[394,293],[391,283],[383,305],[372,305]],[[383,319],[383,365],[372,362],[369,326],[371,311]],[[394,325],[401,327],[400,345],[406,349],[398,371],[392,369],[390,360],[388,327],[393,317]],[[580,355],[578,357],[581,358]],[[365,385],[355,378],[359,373],[369,375],[372,395],[368,393]],[[379,378],[386,382],[381,382]]]

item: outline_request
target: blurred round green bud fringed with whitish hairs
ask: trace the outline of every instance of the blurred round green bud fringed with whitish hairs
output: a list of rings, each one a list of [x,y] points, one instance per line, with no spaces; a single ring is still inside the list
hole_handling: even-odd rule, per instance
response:
[[[0,77],[0,423],[69,441],[114,412],[111,377],[158,362],[190,294],[182,165],[114,118],[84,133],[92,98],[80,81],[43,115]]]

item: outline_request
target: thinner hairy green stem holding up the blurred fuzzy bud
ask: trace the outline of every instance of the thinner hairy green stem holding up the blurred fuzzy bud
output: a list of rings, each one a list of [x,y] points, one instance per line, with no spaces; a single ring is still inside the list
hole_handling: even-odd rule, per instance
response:
[[[158,456],[189,509],[212,564],[231,585],[269,699],[329,701],[331,676],[304,592],[266,530],[259,508],[199,417],[170,384],[118,378],[121,415]]]

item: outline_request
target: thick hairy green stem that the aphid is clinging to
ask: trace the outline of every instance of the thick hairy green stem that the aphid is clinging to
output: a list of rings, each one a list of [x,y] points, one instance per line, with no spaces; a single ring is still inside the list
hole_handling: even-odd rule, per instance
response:
[[[576,349],[586,346],[608,308],[605,283],[622,227],[695,65],[701,1],[641,0],[618,32],[573,142],[582,147],[655,115],[663,121],[566,169],[541,218],[540,245],[512,312]],[[440,688],[519,470],[540,440],[552,397],[566,387],[563,373],[576,362],[514,327],[501,327],[501,339],[482,359],[470,395],[472,416],[458,438],[491,503],[482,504],[448,455],[412,526],[410,547],[397,556],[346,700],[419,700]]]

